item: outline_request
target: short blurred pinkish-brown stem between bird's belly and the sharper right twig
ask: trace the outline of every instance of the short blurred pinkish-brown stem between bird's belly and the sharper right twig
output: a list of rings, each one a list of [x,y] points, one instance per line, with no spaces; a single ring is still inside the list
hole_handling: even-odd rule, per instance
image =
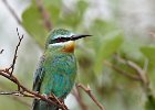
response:
[[[80,107],[81,107],[81,110],[89,110],[87,106],[84,103],[84,101],[82,100],[82,97],[81,97],[81,92],[78,88],[78,86],[75,86],[76,88],[73,89],[73,96],[75,97],[76,101],[79,102]]]

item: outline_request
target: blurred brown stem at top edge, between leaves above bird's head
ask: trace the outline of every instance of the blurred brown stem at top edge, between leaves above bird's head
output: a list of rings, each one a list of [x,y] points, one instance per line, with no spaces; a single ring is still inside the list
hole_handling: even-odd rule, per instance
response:
[[[42,19],[43,19],[43,24],[44,26],[51,31],[52,30],[52,23],[50,21],[50,14],[48,12],[48,10],[45,10],[45,8],[43,7],[43,1],[42,0],[35,0],[38,9],[40,11],[40,13],[42,14]]]

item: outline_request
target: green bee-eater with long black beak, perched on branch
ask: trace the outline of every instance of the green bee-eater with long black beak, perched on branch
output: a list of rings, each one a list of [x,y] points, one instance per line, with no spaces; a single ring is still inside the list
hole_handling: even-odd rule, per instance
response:
[[[45,42],[44,53],[33,75],[32,90],[64,100],[72,90],[76,77],[75,41],[91,36],[74,34],[65,29],[52,30]],[[59,110],[56,105],[34,99],[32,110]]]

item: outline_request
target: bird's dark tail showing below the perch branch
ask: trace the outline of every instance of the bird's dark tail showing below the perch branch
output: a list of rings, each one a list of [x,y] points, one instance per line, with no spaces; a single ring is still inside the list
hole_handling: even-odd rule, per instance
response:
[[[59,107],[42,100],[34,99],[32,105],[32,110],[59,110]]]

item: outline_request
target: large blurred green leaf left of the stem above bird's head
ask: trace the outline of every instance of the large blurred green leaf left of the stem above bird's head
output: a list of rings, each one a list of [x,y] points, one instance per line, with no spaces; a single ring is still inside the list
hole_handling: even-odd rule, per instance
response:
[[[44,46],[44,41],[46,36],[46,30],[43,26],[43,21],[40,12],[35,4],[30,6],[22,13],[22,25],[28,31],[28,33],[34,38],[39,46]]]

